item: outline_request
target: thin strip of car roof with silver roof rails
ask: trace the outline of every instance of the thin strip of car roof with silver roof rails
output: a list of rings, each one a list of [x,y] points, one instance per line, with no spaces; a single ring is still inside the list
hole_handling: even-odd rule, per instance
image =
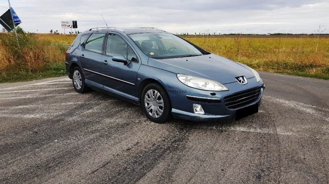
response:
[[[94,32],[94,31],[114,31],[114,32],[123,32],[127,35],[137,34],[137,33],[168,33],[160,28],[117,28],[117,27],[99,27],[99,28],[90,28],[87,32]]]

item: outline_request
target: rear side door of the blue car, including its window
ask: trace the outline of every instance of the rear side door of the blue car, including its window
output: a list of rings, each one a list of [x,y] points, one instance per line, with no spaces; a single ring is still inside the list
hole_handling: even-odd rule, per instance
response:
[[[102,57],[106,32],[92,33],[80,52],[80,63],[89,84],[102,87]]]

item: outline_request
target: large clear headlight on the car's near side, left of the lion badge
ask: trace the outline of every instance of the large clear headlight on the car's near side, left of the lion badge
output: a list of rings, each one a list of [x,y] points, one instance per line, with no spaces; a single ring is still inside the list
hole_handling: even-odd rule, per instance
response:
[[[228,91],[228,88],[226,88],[224,85],[216,81],[203,79],[200,77],[194,77],[190,75],[184,75],[184,74],[177,74],[177,78],[183,84],[191,88],[196,88],[206,91],[216,91],[216,92]]]

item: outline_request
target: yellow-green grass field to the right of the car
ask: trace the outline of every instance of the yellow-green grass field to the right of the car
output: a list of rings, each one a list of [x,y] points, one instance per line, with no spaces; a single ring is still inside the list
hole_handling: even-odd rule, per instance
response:
[[[184,36],[217,55],[256,70],[329,79],[326,36]]]

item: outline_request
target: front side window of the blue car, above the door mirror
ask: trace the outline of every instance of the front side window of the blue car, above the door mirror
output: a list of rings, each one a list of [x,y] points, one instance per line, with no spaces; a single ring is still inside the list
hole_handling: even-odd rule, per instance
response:
[[[113,56],[115,54],[122,54],[124,57],[127,56],[127,45],[128,43],[117,35],[109,35],[106,43],[106,55]],[[128,60],[138,62],[137,56],[128,45]]]

